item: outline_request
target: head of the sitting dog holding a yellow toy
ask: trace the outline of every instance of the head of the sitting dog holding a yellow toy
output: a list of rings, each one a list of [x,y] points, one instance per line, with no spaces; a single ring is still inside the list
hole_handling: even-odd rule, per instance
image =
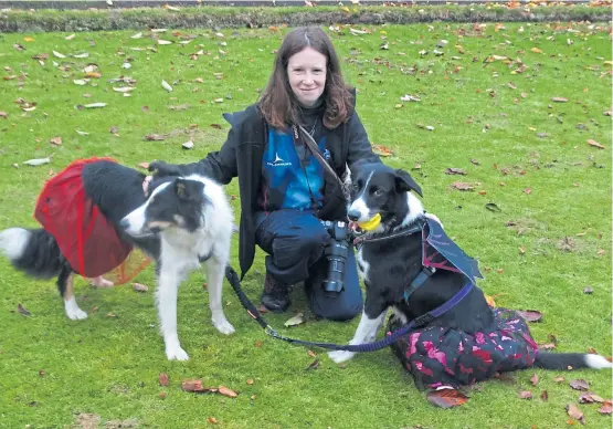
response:
[[[410,224],[423,216],[423,206],[412,191],[422,189],[411,175],[383,164],[366,164],[351,172],[351,198],[347,216],[356,222],[367,222],[381,214],[382,229]],[[394,224],[391,224],[394,223]]]

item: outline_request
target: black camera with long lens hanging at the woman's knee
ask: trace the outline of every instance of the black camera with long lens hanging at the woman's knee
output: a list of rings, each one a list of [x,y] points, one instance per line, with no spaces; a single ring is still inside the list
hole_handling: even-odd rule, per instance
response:
[[[324,289],[329,294],[336,295],[345,287],[345,263],[349,249],[350,230],[347,222],[341,220],[325,220],[321,223],[331,238],[325,251],[328,259],[328,274],[324,280]]]

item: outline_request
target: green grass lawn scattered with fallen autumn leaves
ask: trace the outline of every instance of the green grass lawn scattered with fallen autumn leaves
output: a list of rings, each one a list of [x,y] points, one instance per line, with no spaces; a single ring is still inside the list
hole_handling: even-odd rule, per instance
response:
[[[500,306],[541,311],[543,321],[531,325],[539,343],[553,334],[559,352],[594,347],[610,355],[611,117],[603,112],[611,111],[611,66],[605,63],[611,60],[611,29],[568,23],[505,27],[496,31],[488,24],[482,33],[472,24],[433,23],[368,27],[371,33],[366,35],[352,35],[345,28],[330,34],[345,59],[347,80],[359,88],[358,108],[371,140],[392,149],[394,155],[385,161],[411,170],[424,190],[425,207],[480,260],[487,279],[479,285],[486,293],[500,294]],[[156,158],[184,163],[218,148],[229,128],[221,114],[256,100],[286,31],[223,30],[222,39],[210,30],[181,30],[195,39],[186,46],[156,45],[157,52],[130,49],[154,46],[148,32],[138,40],[130,39],[134,32],[77,33],[70,41],[64,39],[67,33],[0,35],[0,63],[11,67],[1,75],[24,75],[22,85],[18,79],[0,81],[0,111],[8,113],[7,119],[0,118],[0,228],[34,227],[34,202],[50,170],[60,171],[73,159],[106,155],[128,166]],[[27,35],[35,41],[24,41]],[[170,33],[160,38],[179,40]],[[442,39],[448,41],[438,48],[444,55],[434,56]],[[380,50],[384,42],[389,50]],[[27,51],[15,50],[14,43]],[[89,57],[55,59],[52,50],[65,55],[88,52]],[[199,50],[204,54],[190,60],[189,54]],[[429,53],[420,55],[422,50]],[[31,59],[40,53],[50,54],[43,66]],[[527,69],[511,74],[517,64],[484,63],[489,55],[520,59]],[[123,70],[128,57],[133,67]],[[75,85],[73,80],[83,77],[88,63],[98,65],[102,79]],[[223,73],[223,79],[213,73]],[[114,92],[107,82],[119,75],[137,81],[131,97]],[[203,83],[194,81],[199,77]],[[173,92],[161,87],[162,79]],[[419,95],[421,102],[402,103],[404,94]],[[22,112],[14,103],[19,97],[36,103],[36,109]],[[107,106],[75,108],[94,102]],[[168,108],[182,104],[190,107]],[[118,136],[109,133],[113,126]],[[80,136],[75,129],[91,134]],[[144,139],[154,133],[175,137]],[[62,137],[60,147],[49,143],[56,136]],[[189,138],[194,148],[183,150],[181,144]],[[605,149],[589,146],[588,139]],[[50,165],[21,164],[51,155]],[[447,167],[463,168],[467,176],[447,176]],[[451,184],[456,180],[475,189],[454,190]],[[228,193],[237,193],[236,182]],[[488,202],[501,212],[487,210]],[[233,205],[239,216],[239,201]],[[517,224],[507,227],[508,221]],[[571,240],[568,251],[559,245],[566,237]],[[244,282],[254,300],[263,272],[258,253]],[[152,286],[152,270],[137,280]],[[610,372],[567,373],[567,383],[557,384],[553,377],[560,372],[528,370],[507,381],[479,385],[463,407],[437,409],[389,350],[360,355],[346,368],[316,350],[319,367],[305,370],[314,360],[307,350],[267,338],[228,285],[226,314],[236,334],[221,336],[209,322],[202,281],[202,274],[194,273],[179,296],[179,335],[191,359],[169,363],[156,327],[152,293],[137,294],[129,285],[95,290],[78,280],[77,301],[89,318],[72,322],[64,316],[52,281],[32,281],[2,261],[0,427],[66,427],[77,414],[92,412],[103,426],[133,419],[159,428],[208,427],[209,417],[225,428],[554,428],[568,426],[564,407],[578,401],[570,379],[584,378],[594,393],[611,397]],[[585,286],[593,293],[584,294]],[[17,312],[19,303],[32,317]],[[309,320],[284,328],[283,322],[298,310],[307,310],[300,290],[294,292],[287,314],[268,320],[287,335],[339,343],[351,337],[358,323]],[[170,377],[168,387],[158,385],[162,372]],[[540,377],[536,387],[529,380],[535,373]],[[188,378],[224,385],[240,395],[230,399],[184,393],[180,383]],[[521,390],[531,390],[535,399],[519,399]],[[548,401],[539,399],[542,390]],[[589,427],[611,426],[598,406],[579,407]]]

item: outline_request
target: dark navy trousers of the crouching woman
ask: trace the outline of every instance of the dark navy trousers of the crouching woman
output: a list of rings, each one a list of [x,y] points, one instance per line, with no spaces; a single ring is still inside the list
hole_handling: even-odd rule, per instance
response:
[[[313,312],[324,318],[348,321],[362,311],[362,291],[353,247],[345,264],[345,289],[329,294],[324,289],[328,260],[324,253],[330,234],[311,212],[282,209],[256,214],[255,240],[268,255],[266,272],[286,284],[305,282]]]

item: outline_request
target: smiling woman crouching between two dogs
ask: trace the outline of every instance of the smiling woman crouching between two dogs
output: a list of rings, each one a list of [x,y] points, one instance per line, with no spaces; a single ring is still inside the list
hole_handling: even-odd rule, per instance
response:
[[[289,286],[304,281],[316,315],[352,318],[362,308],[352,248],[344,290],[328,294],[323,285],[330,234],[320,220],[346,219],[346,201],[338,179],[306,146],[305,133],[338,176],[346,166],[380,159],[371,150],[355,111],[355,92],[345,84],[328,35],[314,27],[289,32],[260,101],[224,117],[232,127],[219,151],[193,164],[156,161],[150,170],[162,176],[198,172],[224,185],[239,177],[242,275],[253,263],[255,244],[268,254],[262,304],[285,311]]]

